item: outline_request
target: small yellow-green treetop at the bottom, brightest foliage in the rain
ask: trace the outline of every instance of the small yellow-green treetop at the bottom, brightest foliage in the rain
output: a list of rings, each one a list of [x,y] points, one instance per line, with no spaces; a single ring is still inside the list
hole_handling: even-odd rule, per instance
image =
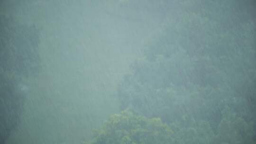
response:
[[[173,133],[160,118],[148,119],[125,110],[112,115],[86,144],[171,144]]]

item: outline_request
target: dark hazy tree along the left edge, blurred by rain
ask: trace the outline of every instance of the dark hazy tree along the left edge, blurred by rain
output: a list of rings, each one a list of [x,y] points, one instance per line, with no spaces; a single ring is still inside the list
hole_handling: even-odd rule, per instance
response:
[[[17,126],[25,89],[24,77],[39,68],[38,30],[0,16],[0,143]]]

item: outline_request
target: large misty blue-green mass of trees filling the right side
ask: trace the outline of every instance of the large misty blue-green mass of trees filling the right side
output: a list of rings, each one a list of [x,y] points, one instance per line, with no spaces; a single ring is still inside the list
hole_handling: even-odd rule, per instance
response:
[[[161,117],[177,127],[179,144],[255,142],[252,3],[177,3],[177,15],[167,18],[145,55],[132,65],[133,73],[119,84],[121,108]],[[190,122],[179,124],[184,117]]]

